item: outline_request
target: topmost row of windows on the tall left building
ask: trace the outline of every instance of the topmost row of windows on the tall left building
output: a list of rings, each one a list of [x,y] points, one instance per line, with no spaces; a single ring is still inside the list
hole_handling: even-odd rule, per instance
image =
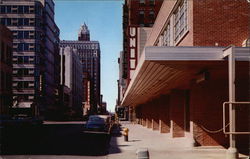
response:
[[[0,6],[0,14],[38,14],[42,15],[40,6]]]

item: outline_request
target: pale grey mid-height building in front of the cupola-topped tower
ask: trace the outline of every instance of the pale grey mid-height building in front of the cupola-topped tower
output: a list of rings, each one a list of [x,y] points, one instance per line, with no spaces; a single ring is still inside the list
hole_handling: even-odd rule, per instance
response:
[[[64,94],[69,92],[69,111],[76,116],[82,115],[82,65],[77,50],[65,47],[60,48],[61,56],[61,80],[60,85],[64,86]],[[66,91],[69,88],[70,91]],[[63,100],[65,101],[65,100]],[[64,103],[66,104],[66,103]],[[65,105],[66,106],[66,105]],[[78,115],[77,115],[78,113]],[[74,115],[73,114],[73,115]]]

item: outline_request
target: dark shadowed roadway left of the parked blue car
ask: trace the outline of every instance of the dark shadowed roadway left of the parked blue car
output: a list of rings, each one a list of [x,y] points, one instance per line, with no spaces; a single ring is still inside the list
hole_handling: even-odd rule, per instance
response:
[[[49,159],[58,158],[58,155],[60,158],[103,158],[108,152],[109,135],[86,133],[83,124],[45,122],[41,126],[3,129],[1,153],[6,159]]]

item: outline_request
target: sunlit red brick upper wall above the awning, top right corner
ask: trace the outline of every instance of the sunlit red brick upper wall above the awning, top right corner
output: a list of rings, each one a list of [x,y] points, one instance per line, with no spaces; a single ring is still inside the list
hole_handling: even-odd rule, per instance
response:
[[[241,46],[250,37],[246,0],[194,0],[194,46]]]

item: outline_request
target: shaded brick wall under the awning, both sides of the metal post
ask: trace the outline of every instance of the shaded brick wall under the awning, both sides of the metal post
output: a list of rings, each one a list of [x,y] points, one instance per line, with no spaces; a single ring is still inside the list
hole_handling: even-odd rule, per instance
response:
[[[248,69],[242,65],[236,65],[236,101],[248,101],[249,76]],[[246,69],[243,69],[246,68]],[[228,146],[229,138],[222,131],[214,131],[222,128],[222,104],[228,101],[228,72],[227,65],[217,69],[210,69],[210,78],[198,84],[193,84],[190,89],[190,120],[193,121],[194,138],[198,145]],[[227,112],[228,113],[228,112]],[[238,118],[237,118],[238,116]],[[249,109],[237,111],[238,130],[247,130],[249,123]],[[228,115],[227,115],[228,118]],[[209,132],[209,131],[211,132]],[[238,136],[238,147],[247,147],[247,136]]]

